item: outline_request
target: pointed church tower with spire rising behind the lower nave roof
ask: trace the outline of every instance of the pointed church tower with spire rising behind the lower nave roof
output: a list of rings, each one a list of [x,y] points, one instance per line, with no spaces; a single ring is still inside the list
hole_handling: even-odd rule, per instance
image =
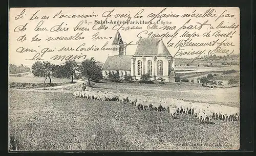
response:
[[[113,54],[115,55],[126,55],[126,51],[123,49],[124,44],[123,40],[121,38],[120,33],[117,31],[115,38],[113,40],[112,46],[115,47],[115,49],[112,51]]]

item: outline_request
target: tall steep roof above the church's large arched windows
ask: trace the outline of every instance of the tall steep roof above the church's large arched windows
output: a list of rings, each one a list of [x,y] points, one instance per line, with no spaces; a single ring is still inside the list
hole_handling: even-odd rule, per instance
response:
[[[134,56],[171,56],[161,38],[141,38]]]

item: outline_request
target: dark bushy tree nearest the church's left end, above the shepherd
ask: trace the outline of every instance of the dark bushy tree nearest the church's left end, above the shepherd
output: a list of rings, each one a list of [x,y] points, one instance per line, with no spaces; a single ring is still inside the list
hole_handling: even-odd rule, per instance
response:
[[[101,68],[96,65],[96,61],[94,60],[94,58],[82,61],[79,69],[81,71],[81,74],[88,78],[89,86],[91,84],[91,80],[102,79],[103,77]]]

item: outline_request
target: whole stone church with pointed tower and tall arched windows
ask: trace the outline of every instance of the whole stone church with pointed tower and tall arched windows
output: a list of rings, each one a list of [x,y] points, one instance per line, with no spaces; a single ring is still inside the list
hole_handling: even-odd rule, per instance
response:
[[[124,75],[131,75],[134,80],[140,80],[142,74],[148,73],[151,80],[159,77],[165,82],[175,82],[175,62],[161,38],[141,38],[134,55],[126,55],[126,48],[119,32],[116,33],[112,51],[103,64],[101,70],[104,78],[109,73],[119,72],[121,79]]]

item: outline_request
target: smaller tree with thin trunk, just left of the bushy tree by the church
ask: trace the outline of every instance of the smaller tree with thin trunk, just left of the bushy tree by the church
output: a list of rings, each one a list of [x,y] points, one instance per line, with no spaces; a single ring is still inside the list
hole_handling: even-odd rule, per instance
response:
[[[74,74],[75,74],[76,67],[77,67],[77,63],[74,60],[66,61],[65,64],[63,65],[62,72],[64,76],[71,77],[71,83],[74,82]]]

